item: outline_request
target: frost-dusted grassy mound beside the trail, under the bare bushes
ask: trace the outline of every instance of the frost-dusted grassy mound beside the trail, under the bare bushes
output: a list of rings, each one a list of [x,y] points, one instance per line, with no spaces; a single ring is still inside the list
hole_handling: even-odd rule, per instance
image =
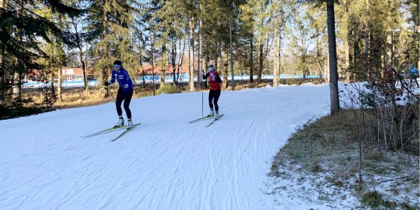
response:
[[[301,130],[297,130],[276,154],[269,176],[288,179],[288,176],[282,176],[281,172],[300,166],[301,171],[290,173],[301,174],[300,176],[304,176],[305,173],[332,174],[333,179],[329,184],[347,188],[360,199],[365,198],[372,189],[388,188],[394,196],[382,196],[379,208],[386,209],[387,204],[392,203],[403,209],[416,209],[412,202],[401,202],[395,197],[419,195],[418,156],[412,156],[412,161],[407,162],[407,154],[380,151],[373,149],[373,145],[367,147],[366,144],[372,142],[367,139],[363,148],[363,183],[357,182],[358,136],[353,118],[359,114],[357,111],[343,110],[334,116],[308,122]],[[369,202],[364,204],[370,205]]]

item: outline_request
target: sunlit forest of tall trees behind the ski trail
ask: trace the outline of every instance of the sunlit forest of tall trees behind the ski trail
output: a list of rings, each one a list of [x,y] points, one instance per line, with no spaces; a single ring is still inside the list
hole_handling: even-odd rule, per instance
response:
[[[172,66],[173,75],[188,64],[186,91],[201,90],[194,76],[200,80],[197,72],[210,64],[228,90],[235,90],[232,75],[249,76],[249,84],[273,75],[274,87],[282,73],[318,75],[336,85],[330,72],[350,82],[379,82],[384,69],[404,75],[409,64],[419,66],[418,0],[335,1],[335,30],[330,33],[336,36],[337,56],[332,59],[337,62],[328,56],[326,2],[1,0],[0,106],[4,113],[20,116],[73,99],[63,97],[64,67],[83,69],[84,90],[73,92],[79,99],[92,93],[97,99],[109,97],[101,84],[109,79],[115,59],[134,78],[148,74],[145,63]],[[23,78],[34,69],[41,71],[39,80],[51,82],[40,90],[41,101],[22,91]],[[97,87],[89,87],[88,71],[99,81]],[[149,87],[153,94],[155,87],[179,85],[174,77],[165,86],[161,73],[160,85]]]

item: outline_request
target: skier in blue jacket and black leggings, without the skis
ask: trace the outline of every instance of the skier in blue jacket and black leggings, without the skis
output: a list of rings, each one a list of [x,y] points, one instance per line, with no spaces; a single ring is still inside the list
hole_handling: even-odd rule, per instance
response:
[[[120,127],[124,125],[123,119],[123,109],[121,109],[121,104],[124,101],[124,110],[127,114],[128,119],[128,127],[132,127],[132,113],[130,111],[130,102],[133,96],[133,83],[128,74],[127,70],[123,68],[123,63],[120,60],[116,60],[113,62],[113,70],[111,74],[111,80],[109,82],[105,82],[104,85],[112,85],[113,83],[118,81],[118,94],[116,98],[116,106],[117,106],[117,113],[118,113],[118,123],[115,127]]]

